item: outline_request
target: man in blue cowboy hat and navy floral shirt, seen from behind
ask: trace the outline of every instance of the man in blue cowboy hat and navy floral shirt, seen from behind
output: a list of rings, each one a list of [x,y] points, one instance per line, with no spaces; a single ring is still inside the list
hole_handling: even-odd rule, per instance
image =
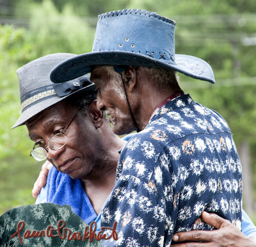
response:
[[[88,72],[122,149],[102,226],[117,221],[118,246],[168,246],[176,232],[212,230],[216,212],[241,229],[241,163],[223,118],[179,87],[176,72],[214,83],[211,67],[175,54],[173,20],[141,10],[99,15],[93,51],[58,65],[61,83]],[[110,240],[104,242],[112,246]]]

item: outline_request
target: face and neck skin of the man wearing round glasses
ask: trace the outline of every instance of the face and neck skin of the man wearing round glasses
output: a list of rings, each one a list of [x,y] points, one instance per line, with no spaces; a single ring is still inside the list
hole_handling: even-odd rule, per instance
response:
[[[45,109],[26,122],[29,137],[35,142],[46,143],[67,127],[76,112],[76,107],[65,102]],[[65,136],[68,142],[60,150],[47,148],[47,159],[72,179],[81,179],[95,212],[99,214],[115,184],[118,150],[124,141],[113,134],[95,102],[88,107],[86,117],[81,112],[77,114]]]

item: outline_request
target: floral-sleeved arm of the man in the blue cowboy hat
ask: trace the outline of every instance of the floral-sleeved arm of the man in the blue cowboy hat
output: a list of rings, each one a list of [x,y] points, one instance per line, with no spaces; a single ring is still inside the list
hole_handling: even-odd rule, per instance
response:
[[[101,227],[113,227],[117,222],[118,240],[102,245],[165,246],[171,243],[177,207],[173,209],[168,166],[161,170],[161,162],[160,157],[156,160],[148,142],[141,143],[138,138],[130,140],[122,150],[116,184],[102,209],[101,221]]]

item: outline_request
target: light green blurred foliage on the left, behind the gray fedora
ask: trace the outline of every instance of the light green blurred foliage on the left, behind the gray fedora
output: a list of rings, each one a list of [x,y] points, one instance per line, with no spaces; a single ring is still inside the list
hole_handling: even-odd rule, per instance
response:
[[[26,127],[11,129],[21,113],[17,68],[54,52],[91,51],[95,32],[70,5],[58,12],[45,0],[27,10],[28,28],[0,26],[0,214],[35,202],[31,189],[42,165],[29,157],[33,143]]]

